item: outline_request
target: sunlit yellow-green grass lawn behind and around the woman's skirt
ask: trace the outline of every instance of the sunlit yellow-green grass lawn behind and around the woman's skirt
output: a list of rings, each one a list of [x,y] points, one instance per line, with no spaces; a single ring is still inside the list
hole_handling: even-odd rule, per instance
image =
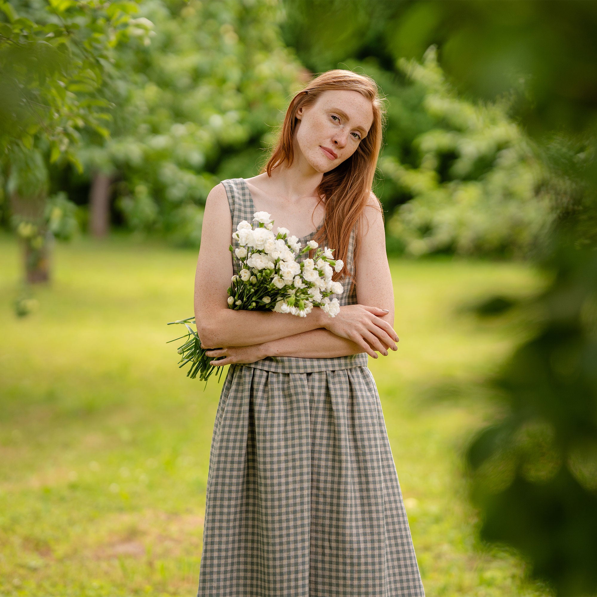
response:
[[[0,595],[195,595],[221,385],[177,370],[165,323],[192,314],[196,252],[57,245],[22,319],[10,236],[0,255]],[[478,382],[524,331],[458,312],[541,278],[522,264],[391,265],[401,341],[370,367],[427,595],[547,595],[515,554],[475,540],[461,457],[493,412]]]

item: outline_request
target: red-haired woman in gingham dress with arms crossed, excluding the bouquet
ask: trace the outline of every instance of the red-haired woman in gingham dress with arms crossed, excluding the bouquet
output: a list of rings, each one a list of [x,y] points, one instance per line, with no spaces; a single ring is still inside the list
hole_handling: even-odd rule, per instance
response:
[[[199,597],[424,595],[367,368],[367,355],[387,356],[398,341],[371,192],[382,128],[372,79],[323,73],[291,101],[261,174],[208,195],[195,315],[208,355],[230,368],[211,442]],[[257,211],[343,260],[336,317],[227,309],[232,231]]]

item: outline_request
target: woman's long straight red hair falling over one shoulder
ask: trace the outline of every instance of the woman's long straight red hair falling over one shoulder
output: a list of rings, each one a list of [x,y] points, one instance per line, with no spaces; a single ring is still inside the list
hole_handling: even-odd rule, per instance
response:
[[[379,200],[373,195],[372,186],[377,168],[377,158],[381,149],[381,137],[385,124],[386,110],[380,97],[376,82],[367,75],[359,75],[350,70],[328,70],[307,83],[290,102],[286,110],[284,122],[278,131],[278,139],[273,146],[267,164],[261,168],[260,174],[267,172],[272,176],[272,170],[279,165],[293,163],[293,139],[298,119],[297,110],[311,106],[319,95],[328,90],[358,91],[371,101],[373,107],[373,123],[367,136],[359,143],[355,153],[344,160],[334,170],[326,172],[316,189],[319,204],[324,204],[324,224],[315,235],[315,241],[334,248],[334,257],[344,261],[341,272],[334,273],[334,280],[348,276],[350,289],[355,284],[356,260],[358,258],[361,236],[362,216],[370,199],[375,198],[377,207],[381,210]],[[383,214],[383,210],[381,210]],[[354,267],[347,267],[347,254],[350,233],[356,228],[354,247]]]

